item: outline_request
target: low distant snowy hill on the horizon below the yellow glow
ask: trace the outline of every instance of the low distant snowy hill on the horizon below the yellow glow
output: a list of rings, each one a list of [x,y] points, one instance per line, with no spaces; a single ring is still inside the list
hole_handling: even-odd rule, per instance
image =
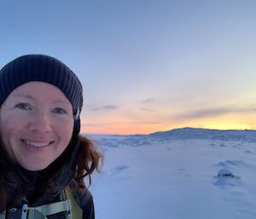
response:
[[[212,139],[233,141],[256,141],[256,130],[207,130],[182,128],[150,134],[152,137],[168,139]]]

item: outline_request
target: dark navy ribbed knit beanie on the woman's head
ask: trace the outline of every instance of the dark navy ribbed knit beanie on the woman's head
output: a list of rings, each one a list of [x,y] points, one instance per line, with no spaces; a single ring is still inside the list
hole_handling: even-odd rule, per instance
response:
[[[23,55],[3,66],[0,72],[0,106],[14,89],[32,81],[45,82],[61,89],[73,106],[74,133],[79,134],[82,85],[64,63],[48,55]]]

